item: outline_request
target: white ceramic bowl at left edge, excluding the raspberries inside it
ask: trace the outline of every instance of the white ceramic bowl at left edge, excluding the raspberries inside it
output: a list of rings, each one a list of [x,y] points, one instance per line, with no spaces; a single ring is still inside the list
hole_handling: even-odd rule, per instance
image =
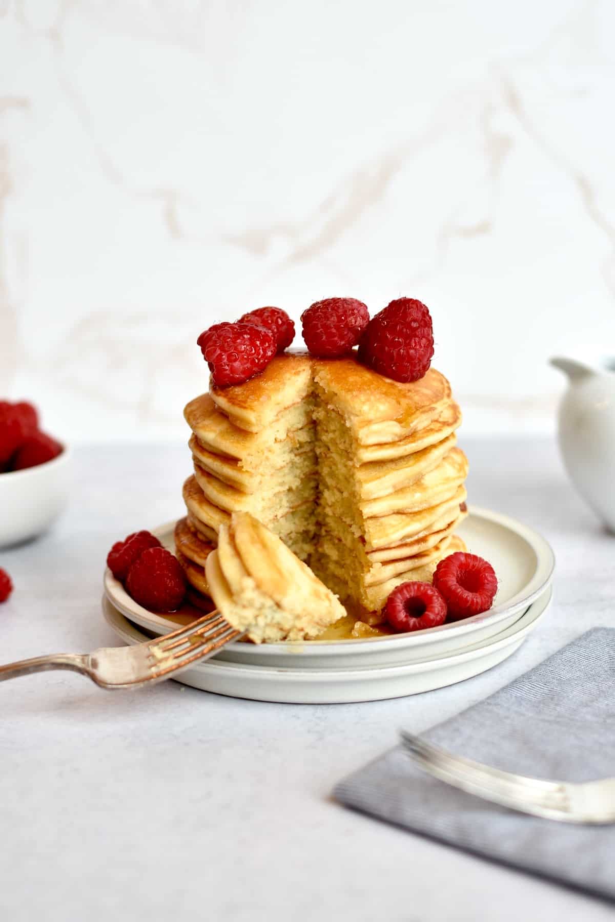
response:
[[[53,524],[68,499],[72,453],[36,467],[0,474],[0,548],[36,538]]]

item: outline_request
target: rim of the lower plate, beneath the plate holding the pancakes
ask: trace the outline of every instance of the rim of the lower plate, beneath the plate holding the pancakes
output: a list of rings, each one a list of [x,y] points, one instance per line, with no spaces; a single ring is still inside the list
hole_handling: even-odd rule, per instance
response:
[[[214,656],[205,662],[195,663],[193,668],[205,670],[216,668],[217,670],[222,670],[226,676],[232,676],[234,673],[237,675],[237,677],[243,676],[244,678],[247,678],[249,676],[258,676],[262,680],[269,680],[272,682],[278,679],[290,680],[291,682],[307,681],[310,684],[317,684],[318,682],[322,682],[324,678],[326,681],[341,683],[343,681],[352,680],[376,680],[378,678],[385,680],[387,678],[395,679],[398,676],[420,675],[423,672],[430,672],[432,670],[438,671],[440,669],[446,668],[447,666],[452,666],[454,663],[461,665],[463,663],[472,662],[475,659],[480,659],[481,655],[485,656],[485,651],[487,650],[489,650],[491,653],[497,653],[498,651],[505,649],[508,645],[513,645],[517,641],[518,645],[522,644],[526,639],[527,634],[530,633],[545,617],[548,610],[550,609],[552,600],[553,587],[549,585],[546,587],[544,593],[541,596],[534,599],[534,602],[529,605],[524,615],[502,632],[504,636],[495,635],[493,640],[487,638],[486,640],[479,641],[479,643],[473,644],[470,647],[466,647],[456,652],[454,651],[449,656],[440,656],[435,659],[421,660],[419,663],[404,663],[397,664],[395,666],[363,666],[350,668],[337,667],[332,669],[327,669],[325,667],[312,669],[291,669],[283,667],[260,666],[257,664],[251,665],[247,663],[233,663],[227,660],[218,660]],[[122,611],[115,608],[109,598],[103,596],[102,603],[104,619],[107,621],[112,630],[115,630],[117,633],[117,630],[113,627],[112,621],[110,620],[110,617],[107,613],[109,609],[112,610],[112,613],[115,616],[119,616],[119,618],[126,622],[129,629],[128,632],[133,633],[136,636],[137,643],[149,639],[146,634],[139,631],[138,625],[134,624],[132,621],[126,618]],[[526,623],[519,627],[520,621],[524,621]],[[122,636],[122,634],[119,634],[119,636]]]

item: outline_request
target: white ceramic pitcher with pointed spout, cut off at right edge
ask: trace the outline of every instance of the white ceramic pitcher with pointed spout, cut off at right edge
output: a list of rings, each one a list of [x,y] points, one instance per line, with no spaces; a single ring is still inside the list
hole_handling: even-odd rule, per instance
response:
[[[563,463],[585,501],[615,532],[615,367],[594,369],[561,358],[550,363],[569,382],[558,417]]]

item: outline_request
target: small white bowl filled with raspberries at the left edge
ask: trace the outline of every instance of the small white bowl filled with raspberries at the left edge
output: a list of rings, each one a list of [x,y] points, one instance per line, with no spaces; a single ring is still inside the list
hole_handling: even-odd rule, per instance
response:
[[[68,497],[70,452],[26,401],[0,400],[0,547],[36,538]]]

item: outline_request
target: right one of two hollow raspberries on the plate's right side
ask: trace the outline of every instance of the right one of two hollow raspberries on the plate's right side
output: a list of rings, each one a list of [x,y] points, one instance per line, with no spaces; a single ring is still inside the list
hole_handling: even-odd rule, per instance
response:
[[[442,593],[452,621],[491,609],[498,580],[491,563],[461,550],[440,561],[433,573],[433,585]]]

